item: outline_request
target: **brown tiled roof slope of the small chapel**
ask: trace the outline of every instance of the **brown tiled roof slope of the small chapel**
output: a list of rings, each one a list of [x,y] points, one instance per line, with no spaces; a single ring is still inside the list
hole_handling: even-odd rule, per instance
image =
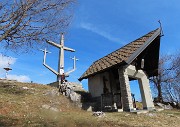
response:
[[[120,49],[117,49],[116,51],[104,56],[103,58],[95,61],[79,78],[79,80],[83,80],[85,78],[88,78],[91,75],[94,75],[98,72],[101,72],[103,70],[106,70],[108,68],[111,68],[115,65],[119,65],[122,62],[128,61],[128,59],[143,45],[147,43],[147,40],[151,38],[157,31],[159,31],[159,28],[156,30],[153,30],[149,32],[148,34],[130,42],[129,44],[123,46]]]

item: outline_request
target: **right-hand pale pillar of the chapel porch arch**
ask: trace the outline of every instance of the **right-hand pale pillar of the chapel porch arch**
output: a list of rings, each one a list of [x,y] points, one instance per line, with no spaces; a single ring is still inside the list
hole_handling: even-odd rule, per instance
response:
[[[143,109],[153,110],[154,104],[153,104],[153,100],[152,100],[149,79],[147,78],[146,75],[144,75],[143,77],[138,79],[138,82],[139,82],[139,88],[141,91]]]

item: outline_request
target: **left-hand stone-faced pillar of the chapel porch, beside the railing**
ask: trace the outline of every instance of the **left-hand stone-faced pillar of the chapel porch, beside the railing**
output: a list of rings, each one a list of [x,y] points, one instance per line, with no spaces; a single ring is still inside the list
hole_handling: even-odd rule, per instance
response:
[[[121,87],[123,110],[132,111],[134,110],[134,108],[133,108],[133,102],[132,102],[132,96],[131,96],[127,70],[126,68],[120,68],[118,72],[119,72],[119,81],[120,81],[120,87]]]

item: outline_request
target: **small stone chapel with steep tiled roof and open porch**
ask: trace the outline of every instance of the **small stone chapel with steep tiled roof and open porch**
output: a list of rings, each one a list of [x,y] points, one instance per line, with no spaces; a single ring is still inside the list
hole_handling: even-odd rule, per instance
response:
[[[135,110],[131,80],[138,80],[143,109],[154,109],[149,78],[158,75],[160,38],[158,28],[93,62],[82,74],[79,81],[88,79],[89,92],[101,109]]]

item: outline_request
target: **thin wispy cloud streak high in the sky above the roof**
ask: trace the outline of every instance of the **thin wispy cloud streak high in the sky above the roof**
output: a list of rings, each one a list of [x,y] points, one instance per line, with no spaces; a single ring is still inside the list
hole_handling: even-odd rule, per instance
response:
[[[119,38],[113,37],[111,34],[99,29],[98,27],[94,26],[93,24],[90,23],[81,23],[80,27],[86,30],[89,30],[93,33],[96,33],[110,41],[116,42],[118,44],[123,44],[122,41]]]

